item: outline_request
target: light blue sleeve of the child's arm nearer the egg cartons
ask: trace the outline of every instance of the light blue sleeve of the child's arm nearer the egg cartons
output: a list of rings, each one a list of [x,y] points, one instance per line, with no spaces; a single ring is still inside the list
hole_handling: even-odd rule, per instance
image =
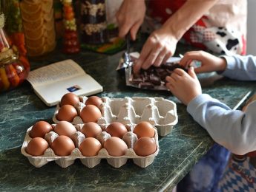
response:
[[[256,101],[242,112],[202,94],[188,103],[187,111],[206,128],[215,142],[232,153],[246,154],[256,150]]]

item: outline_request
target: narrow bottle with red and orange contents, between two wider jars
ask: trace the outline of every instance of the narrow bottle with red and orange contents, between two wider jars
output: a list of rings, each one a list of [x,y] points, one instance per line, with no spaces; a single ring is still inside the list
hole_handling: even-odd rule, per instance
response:
[[[73,10],[72,0],[62,0],[63,4],[63,49],[62,51],[68,54],[80,51],[80,44],[76,30],[76,18]]]

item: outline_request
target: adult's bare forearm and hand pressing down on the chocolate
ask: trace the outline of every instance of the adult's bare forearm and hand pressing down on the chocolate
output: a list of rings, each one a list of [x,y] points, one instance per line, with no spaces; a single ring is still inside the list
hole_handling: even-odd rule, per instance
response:
[[[188,0],[173,16],[168,18],[160,27],[148,37],[140,58],[134,65],[134,72],[148,69],[151,65],[160,66],[174,55],[177,41],[184,33],[203,16],[218,0]]]

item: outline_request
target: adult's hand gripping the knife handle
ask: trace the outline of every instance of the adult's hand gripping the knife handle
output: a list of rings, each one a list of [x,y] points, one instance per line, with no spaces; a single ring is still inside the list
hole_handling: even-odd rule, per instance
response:
[[[124,0],[116,13],[116,20],[119,27],[119,37],[124,38],[128,32],[131,39],[135,40],[137,32],[145,17],[144,0]]]

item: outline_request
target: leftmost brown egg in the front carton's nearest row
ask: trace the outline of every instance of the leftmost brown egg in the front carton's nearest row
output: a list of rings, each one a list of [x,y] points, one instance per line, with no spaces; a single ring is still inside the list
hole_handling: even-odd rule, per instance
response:
[[[49,148],[49,145],[42,137],[35,137],[27,144],[27,154],[33,156],[40,156],[45,153],[45,150]]]

